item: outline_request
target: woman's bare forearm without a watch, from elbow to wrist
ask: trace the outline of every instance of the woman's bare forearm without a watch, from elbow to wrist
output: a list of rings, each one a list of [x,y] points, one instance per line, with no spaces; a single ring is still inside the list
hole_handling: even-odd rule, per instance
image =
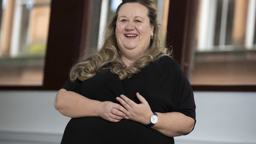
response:
[[[100,101],[90,100],[78,93],[61,89],[54,102],[54,107],[64,116],[71,118],[98,116]]]

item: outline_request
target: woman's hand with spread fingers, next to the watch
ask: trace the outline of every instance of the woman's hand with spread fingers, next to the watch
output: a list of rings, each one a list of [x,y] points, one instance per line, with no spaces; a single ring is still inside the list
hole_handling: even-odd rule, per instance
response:
[[[139,92],[136,93],[136,96],[140,100],[140,104],[135,103],[124,95],[120,96],[122,99],[116,97],[116,100],[118,100],[128,111],[125,119],[130,119],[141,124],[149,124],[150,116],[153,115],[153,112],[151,111],[148,102],[139,94]]]

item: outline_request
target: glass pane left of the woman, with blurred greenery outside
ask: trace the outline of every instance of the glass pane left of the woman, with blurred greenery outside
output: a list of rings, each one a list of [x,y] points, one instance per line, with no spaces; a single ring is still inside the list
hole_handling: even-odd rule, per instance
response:
[[[0,85],[42,85],[51,0],[2,0]]]

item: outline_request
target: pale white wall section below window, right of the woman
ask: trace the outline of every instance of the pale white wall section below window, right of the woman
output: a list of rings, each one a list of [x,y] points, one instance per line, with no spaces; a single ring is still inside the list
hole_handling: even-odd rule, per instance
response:
[[[176,140],[256,143],[256,92],[194,92],[196,126]]]

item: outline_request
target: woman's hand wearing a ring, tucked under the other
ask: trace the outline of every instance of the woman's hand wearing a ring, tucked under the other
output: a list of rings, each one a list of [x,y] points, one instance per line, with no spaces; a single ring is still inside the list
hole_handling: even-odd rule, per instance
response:
[[[117,103],[103,101],[99,105],[98,114],[110,122],[119,122],[124,119],[128,111]]]

